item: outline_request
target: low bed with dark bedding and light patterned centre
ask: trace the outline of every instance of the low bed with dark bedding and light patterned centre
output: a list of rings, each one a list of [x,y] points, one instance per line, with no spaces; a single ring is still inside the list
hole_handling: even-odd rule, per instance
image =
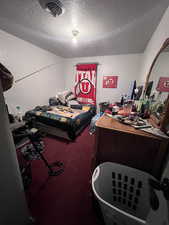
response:
[[[38,106],[26,112],[24,120],[50,135],[74,140],[95,115],[93,105]]]

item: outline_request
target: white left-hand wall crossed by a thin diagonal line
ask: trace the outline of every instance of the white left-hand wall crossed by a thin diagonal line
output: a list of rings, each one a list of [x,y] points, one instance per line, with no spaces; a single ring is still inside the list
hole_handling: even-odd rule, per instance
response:
[[[13,73],[15,80],[44,66],[56,64],[27,78],[5,93],[10,111],[22,111],[48,103],[57,91],[64,90],[63,59],[0,30],[0,62]]]

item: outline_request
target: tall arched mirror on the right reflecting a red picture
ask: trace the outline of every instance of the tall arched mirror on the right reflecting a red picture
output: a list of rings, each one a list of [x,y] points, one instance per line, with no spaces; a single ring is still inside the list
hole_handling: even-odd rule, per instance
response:
[[[152,124],[169,131],[169,39],[162,45],[147,76],[144,97],[150,100]]]

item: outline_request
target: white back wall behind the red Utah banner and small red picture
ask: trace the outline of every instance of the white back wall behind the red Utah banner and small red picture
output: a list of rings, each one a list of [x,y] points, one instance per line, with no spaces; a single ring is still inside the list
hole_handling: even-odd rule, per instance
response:
[[[139,79],[141,60],[142,54],[65,59],[65,86],[67,89],[74,87],[77,63],[98,62],[100,65],[97,71],[97,103],[118,101],[122,94],[127,93],[130,82]],[[119,76],[118,88],[102,88],[104,75]]]

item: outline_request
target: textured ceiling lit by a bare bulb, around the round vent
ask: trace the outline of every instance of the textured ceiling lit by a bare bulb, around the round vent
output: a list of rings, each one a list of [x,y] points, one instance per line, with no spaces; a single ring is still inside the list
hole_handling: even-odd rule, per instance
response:
[[[54,18],[38,0],[0,0],[0,28],[66,58],[141,53],[169,5],[168,0],[61,1],[66,12]]]

